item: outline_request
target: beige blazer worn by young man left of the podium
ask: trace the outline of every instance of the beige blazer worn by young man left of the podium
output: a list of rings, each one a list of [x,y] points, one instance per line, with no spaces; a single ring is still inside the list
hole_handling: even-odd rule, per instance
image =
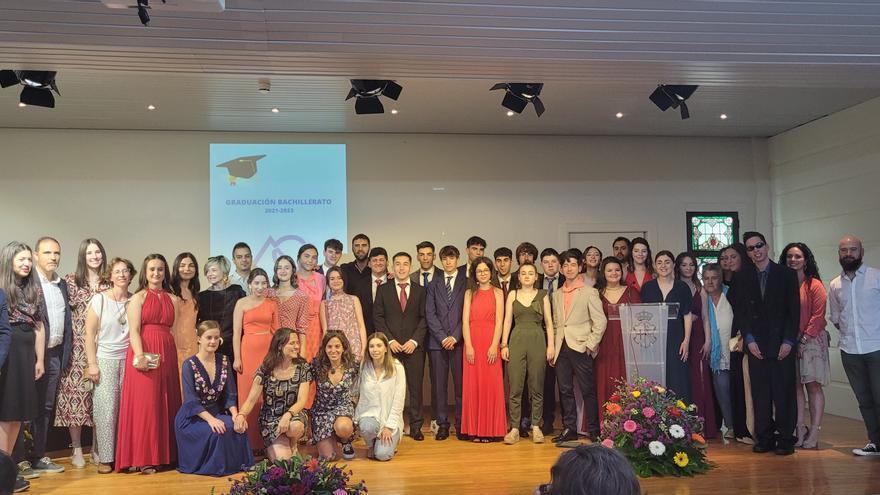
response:
[[[575,290],[571,301],[571,310],[565,315],[565,294],[560,288],[553,293],[553,330],[556,333],[556,355],[553,362],[559,357],[559,349],[562,348],[562,340],[568,347],[577,352],[587,350],[595,357],[602,334],[608,326],[608,318],[602,310],[602,300],[599,291],[592,287],[581,287]]]

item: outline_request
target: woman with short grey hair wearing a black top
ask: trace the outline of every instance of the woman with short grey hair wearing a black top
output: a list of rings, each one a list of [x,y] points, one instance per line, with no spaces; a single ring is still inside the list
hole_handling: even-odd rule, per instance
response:
[[[235,311],[235,303],[246,296],[244,289],[236,284],[229,283],[229,260],[225,256],[212,256],[205,263],[205,279],[208,280],[208,288],[199,292],[199,312],[196,316],[196,324],[203,321],[214,320],[220,324],[220,336],[223,345],[217,352],[224,354],[233,361],[232,352],[232,313]]]

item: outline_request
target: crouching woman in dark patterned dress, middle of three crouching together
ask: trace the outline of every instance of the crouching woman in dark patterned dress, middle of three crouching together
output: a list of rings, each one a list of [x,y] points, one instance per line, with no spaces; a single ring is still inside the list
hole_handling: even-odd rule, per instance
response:
[[[318,356],[312,363],[317,383],[312,405],[312,440],[318,455],[333,460],[336,440],[342,443],[342,457],[354,459],[354,404],[358,387],[358,368],[345,334],[329,330],[324,334]]]

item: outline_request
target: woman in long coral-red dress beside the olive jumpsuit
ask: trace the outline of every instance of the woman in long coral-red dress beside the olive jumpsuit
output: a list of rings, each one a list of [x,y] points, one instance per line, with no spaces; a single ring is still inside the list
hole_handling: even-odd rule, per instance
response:
[[[495,269],[489,258],[477,258],[471,266],[462,318],[461,430],[475,442],[490,442],[507,433],[499,356],[504,294],[492,285]]]

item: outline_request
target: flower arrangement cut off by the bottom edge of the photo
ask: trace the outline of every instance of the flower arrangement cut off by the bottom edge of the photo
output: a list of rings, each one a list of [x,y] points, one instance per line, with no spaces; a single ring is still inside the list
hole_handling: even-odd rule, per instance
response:
[[[229,495],[363,495],[363,480],[349,484],[352,472],[325,460],[295,455],[290,459],[255,465],[241,479],[233,480]]]

